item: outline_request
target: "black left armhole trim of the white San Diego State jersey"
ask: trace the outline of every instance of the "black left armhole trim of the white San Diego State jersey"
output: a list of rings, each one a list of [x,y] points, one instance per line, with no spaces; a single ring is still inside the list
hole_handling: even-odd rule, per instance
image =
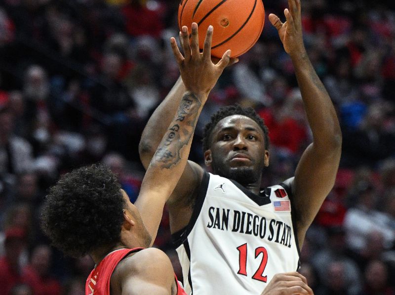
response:
[[[197,193],[197,197],[195,200],[195,206],[192,212],[191,220],[189,221],[188,225],[185,228],[180,229],[179,231],[174,232],[171,235],[171,238],[173,240],[173,245],[176,249],[180,247],[185,241],[187,241],[188,235],[190,234],[190,232],[195,226],[197,217],[199,217],[201,207],[203,206],[203,202],[206,197],[209,180],[210,180],[210,174],[208,174],[208,172],[204,172]]]

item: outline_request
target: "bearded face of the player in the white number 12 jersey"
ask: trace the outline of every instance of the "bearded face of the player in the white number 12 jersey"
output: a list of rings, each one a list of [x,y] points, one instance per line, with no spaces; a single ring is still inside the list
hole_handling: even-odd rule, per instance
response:
[[[246,116],[226,117],[214,128],[211,147],[204,153],[204,159],[218,175],[242,185],[257,182],[262,169],[269,165],[264,133],[254,120]]]

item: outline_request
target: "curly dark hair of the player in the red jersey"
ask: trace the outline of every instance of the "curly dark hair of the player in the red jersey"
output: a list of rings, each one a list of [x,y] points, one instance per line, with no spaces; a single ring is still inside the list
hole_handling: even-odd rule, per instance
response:
[[[53,246],[80,257],[119,241],[125,206],[117,176],[93,164],[63,175],[49,189],[41,227]]]

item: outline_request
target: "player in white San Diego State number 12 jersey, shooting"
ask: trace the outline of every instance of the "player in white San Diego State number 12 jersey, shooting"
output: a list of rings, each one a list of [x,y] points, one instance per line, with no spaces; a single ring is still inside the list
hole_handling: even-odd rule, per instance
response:
[[[189,294],[260,295],[276,273],[296,271],[306,230],[333,187],[340,126],[303,45],[300,1],[288,4],[285,23],[274,14],[269,19],[295,68],[313,143],[294,177],[261,188],[262,170],[269,165],[268,130],[262,119],[240,106],[213,115],[203,138],[204,161],[213,174],[190,161],[167,201]],[[189,56],[186,30],[182,39]],[[193,50],[198,50],[196,28]],[[146,167],[183,92],[178,81],[143,132],[140,158]]]

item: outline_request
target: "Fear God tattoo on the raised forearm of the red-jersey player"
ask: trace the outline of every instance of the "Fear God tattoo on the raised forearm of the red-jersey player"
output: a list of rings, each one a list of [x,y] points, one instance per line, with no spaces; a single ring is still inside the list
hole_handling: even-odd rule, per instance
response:
[[[195,94],[184,94],[171,127],[160,142],[151,165],[169,169],[180,162],[181,149],[188,145],[195,131],[200,106],[201,102]]]

